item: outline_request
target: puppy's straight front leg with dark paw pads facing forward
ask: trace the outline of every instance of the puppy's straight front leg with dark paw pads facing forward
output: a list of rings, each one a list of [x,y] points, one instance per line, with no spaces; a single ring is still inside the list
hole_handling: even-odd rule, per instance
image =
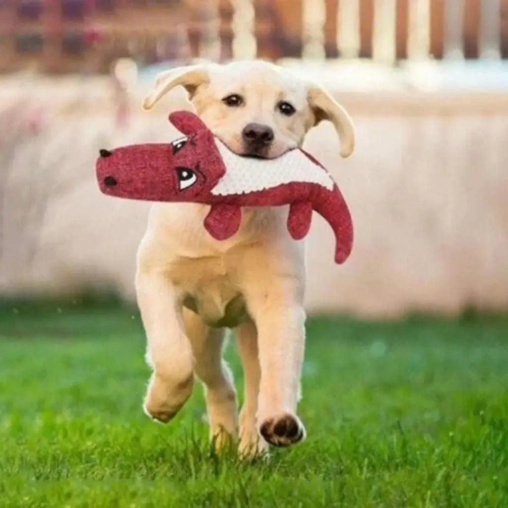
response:
[[[301,281],[293,277],[267,280],[247,290],[261,366],[257,422],[266,441],[285,447],[305,437],[296,416],[305,347],[303,291]]]

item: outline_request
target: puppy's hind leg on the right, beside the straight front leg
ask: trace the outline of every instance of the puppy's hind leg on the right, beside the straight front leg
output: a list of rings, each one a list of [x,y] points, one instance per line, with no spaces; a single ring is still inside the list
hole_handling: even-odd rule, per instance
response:
[[[256,457],[265,453],[267,443],[256,427],[259,382],[261,369],[258,360],[258,332],[251,321],[242,323],[236,329],[238,353],[243,367],[244,401],[240,411],[240,446],[242,457]]]

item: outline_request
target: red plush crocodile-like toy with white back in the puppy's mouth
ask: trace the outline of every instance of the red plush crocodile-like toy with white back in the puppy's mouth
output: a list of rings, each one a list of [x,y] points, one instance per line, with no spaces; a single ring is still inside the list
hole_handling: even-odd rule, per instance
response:
[[[307,234],[315,210],[335,233],[335,261],[347,259],[353,245],[350,212],[337,184],[311,155],[295,148],[275,159],[244,157],[194,113],[179,111],[169,119],[183,135],[171,143],[100,151],[97,179],[104,194],[210,205],[204,226],[217,240],[237,232],[241,207],[290,205],[287,224],[295,240]]]

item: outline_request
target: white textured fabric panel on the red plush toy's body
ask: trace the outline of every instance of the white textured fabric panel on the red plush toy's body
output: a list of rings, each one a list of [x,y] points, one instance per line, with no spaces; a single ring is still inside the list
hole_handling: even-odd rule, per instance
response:
[[[236,155],[217,139],[215,144],[226,166],[226,175],[211,190],[215,196],[247,194],[291,182],[317,183],[333,189],[332,177],[299,149],[279,158],[260,160]]]

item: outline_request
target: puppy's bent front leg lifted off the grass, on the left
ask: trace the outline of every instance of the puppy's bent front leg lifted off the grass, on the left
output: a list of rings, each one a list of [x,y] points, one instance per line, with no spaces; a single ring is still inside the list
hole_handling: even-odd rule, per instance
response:
[[[153,369],[143,408],[148,416],[166,423],[192,392],[192,346],[184,332],[178,295],[164,273],[138,269],[136,293]]]

